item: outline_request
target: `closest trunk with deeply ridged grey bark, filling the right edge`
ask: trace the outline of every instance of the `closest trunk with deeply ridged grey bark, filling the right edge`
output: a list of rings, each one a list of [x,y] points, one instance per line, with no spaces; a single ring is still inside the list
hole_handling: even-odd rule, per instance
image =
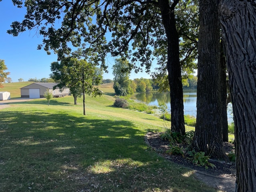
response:
[[[236,192],[256,191],[256,2],[222,0],[222,37],[226,47],[234,114]]]

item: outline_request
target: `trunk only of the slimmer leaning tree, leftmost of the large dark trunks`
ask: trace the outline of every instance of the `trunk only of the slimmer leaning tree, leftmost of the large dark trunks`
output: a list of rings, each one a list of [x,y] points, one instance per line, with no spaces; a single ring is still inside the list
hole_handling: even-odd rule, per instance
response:
[[[179,53],[179,36],[176,30],[176,21],[174,17],[174,7],[170,7],[169,0],[158,0],[162,14],[167,42],[168,42],[168,60],[167,70],[170,85],[171,98],[171,130],[185,134],[184,125],[184,106],[183,90]]]

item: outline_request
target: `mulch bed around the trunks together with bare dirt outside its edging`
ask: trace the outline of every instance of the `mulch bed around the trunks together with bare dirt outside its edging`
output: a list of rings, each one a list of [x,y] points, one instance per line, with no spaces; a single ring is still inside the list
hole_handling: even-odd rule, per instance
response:
[[[196,178],[202,180],[207,185],[223,192],[235,191],[236,168],[234,163],[209,160],[216,168],[212,169],[209,167],[206,170],[204,167],[196,166],[190,162],[186,154],[184,157],[181,155],[166,154],[166,151],[170,149],[170,143],[162,140],[160,133],[148,132],[145,136],[145,142],[167,160],[195,170]],[[224,150],[229,153],[233,150],[233,144],[224,142]]]

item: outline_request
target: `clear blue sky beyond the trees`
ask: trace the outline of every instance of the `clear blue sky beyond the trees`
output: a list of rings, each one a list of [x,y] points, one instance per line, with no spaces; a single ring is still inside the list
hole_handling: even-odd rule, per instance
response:
[[[0,1],[0,59],[4,60],[10,72],[8,77],[12,82],[18,82],[19,78],[27,81],[30,78],[49,78],[51,73],[50,64],[57,61],[57,55],[47,55],[42,50],[37,50],[38,44],[42,43],[42,37],[36,35],[36,31],[26,31],[14,37],[7,34],[14,21],[21,22],[26,14],[26,8],[17,8],[11,0]],[[113,79],[112,65],[114,58],[106,60],[109,73],[104,73],[104,79]],[[146,73],[135,74],[131,72],[130,79],[151,78]]]

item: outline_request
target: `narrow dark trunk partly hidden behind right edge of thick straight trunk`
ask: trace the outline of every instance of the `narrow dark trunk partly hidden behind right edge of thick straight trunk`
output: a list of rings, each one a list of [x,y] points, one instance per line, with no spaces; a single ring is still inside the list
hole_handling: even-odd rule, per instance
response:
[[[223,142],[228,142],[227,75],[226,57],[223,50],[223,41],[221,41],[220,49],[220,104],[222,116],[222,138]]]

